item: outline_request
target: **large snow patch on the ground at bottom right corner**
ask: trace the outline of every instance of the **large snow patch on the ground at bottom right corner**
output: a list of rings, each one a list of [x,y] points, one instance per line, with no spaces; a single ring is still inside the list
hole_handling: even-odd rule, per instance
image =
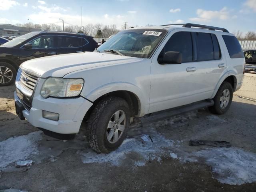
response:
[[[194,157],[204,158],[206,164],[212,167],[214,177],[221,183],[241,185],[256,181],[254,153],[238,148],[207,148],[189,155],[185,159],[190,162],[197,162]]]

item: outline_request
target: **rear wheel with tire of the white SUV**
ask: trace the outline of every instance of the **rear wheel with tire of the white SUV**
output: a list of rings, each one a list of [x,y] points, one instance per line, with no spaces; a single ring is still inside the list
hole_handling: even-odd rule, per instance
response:
[[[214,114],[224,114],[230,108],[233,99],[233,88],[229,82],[224,81],[216,93],[214,106],[209,107]]]

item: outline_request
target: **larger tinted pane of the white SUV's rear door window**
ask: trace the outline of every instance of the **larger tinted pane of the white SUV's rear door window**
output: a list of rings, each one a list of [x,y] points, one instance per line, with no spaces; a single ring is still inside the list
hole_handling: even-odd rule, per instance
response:
[[[197,60],[214,60],[212,37],[209,33],[196,33]]]

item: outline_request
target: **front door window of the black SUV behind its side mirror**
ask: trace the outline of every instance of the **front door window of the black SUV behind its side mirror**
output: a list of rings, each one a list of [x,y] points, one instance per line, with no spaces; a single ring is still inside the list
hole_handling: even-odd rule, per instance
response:
[[[54,48],[53,36],[41,36],[29,42],[32,44],[32,49],[47,49]]]

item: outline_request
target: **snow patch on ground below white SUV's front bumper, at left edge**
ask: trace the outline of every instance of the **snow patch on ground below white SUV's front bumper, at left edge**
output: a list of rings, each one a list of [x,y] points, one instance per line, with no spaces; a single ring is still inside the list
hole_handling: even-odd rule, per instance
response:
[[[32,154],[38,154],[37,143],[42,132],[32,132],[0,142],[0,168],[18,160],[26,160]]]

